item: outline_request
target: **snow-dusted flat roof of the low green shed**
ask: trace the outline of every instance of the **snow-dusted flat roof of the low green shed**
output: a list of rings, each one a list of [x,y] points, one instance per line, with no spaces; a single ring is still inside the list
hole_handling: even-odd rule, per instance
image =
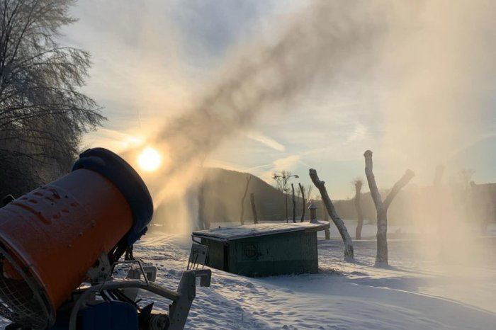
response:
[[[247,237],[257,237],[285,232],[298,232],[304,230],[314,232],[329,227],[329,222],[296,222],[296,223],[261,223],[244,224],[234,227],[220,227],[208,230],[198,230],[193,232],[193,237],[203,237],[215,241],[233,241]]]

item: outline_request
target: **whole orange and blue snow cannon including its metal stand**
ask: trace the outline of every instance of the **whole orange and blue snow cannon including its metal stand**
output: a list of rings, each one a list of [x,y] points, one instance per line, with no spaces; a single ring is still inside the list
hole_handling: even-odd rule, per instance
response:
[[[208,286],[210,271],[185,271],[173,291],[151,283],[153,266],[119,261],[152,215],[140,176],[103,148],[86,150],[71,173],[1,207],[0,314],[13,322],[6,329],[183,329],[196,278]],[[119,263],[137,263],[130,269],[137,277],[114,280]],[[140,307],[137,289],[172,300],[169,314]]]

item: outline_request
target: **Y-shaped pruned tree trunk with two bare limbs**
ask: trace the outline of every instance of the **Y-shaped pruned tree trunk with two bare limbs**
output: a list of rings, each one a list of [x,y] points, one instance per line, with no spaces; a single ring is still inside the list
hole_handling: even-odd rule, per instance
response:
[[[367,150],[363,154],[363,157],[365,157],[365,175],[367,177],[368,188],[371,190],[372,200],[374,205],[376,205],[377,211],[376,266],[388,265],[388,207],[400,190],[415,176],[415,173],[407,170],[402,178],[395,183],[383,202],[377,188],[376,178],[373,175],[372,152]]]

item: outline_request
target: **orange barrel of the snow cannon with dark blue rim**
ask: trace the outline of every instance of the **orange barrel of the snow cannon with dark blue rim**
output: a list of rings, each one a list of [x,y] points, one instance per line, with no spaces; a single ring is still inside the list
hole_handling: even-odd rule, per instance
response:
[[[0,208],[0,314],[52,326],[98,258],[117,261],[152,215],[150,193],[128,163],[86,150],[71,173]]]

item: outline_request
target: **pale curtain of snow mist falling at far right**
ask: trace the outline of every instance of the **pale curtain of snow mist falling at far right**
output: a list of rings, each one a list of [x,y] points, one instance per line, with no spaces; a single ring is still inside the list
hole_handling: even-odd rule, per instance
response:
[[[407,187],[410,205],[402,205],[402,213],[419,227],[419,258],[446,276],[447,290],[470,295],[470,274],[481,271],[480,251],[489,249],[489,239],[480,238],[487,206],[482,202],[489,195],[481,198],[470,187],[473,178],[461,170],[477,170],[477,164],[461,151],[490,125],[496,3],[424,1],[412,16],[402,8],[405,2],[398,2],[397,13],[408,23],[390,31],[378,77],[385,138],[374,157],[381,151],[385,161],[378,168],[397,171],[395,177],[415,171],[414,185],[424,188]],[[433,183],[437,165],[445,171]]]

